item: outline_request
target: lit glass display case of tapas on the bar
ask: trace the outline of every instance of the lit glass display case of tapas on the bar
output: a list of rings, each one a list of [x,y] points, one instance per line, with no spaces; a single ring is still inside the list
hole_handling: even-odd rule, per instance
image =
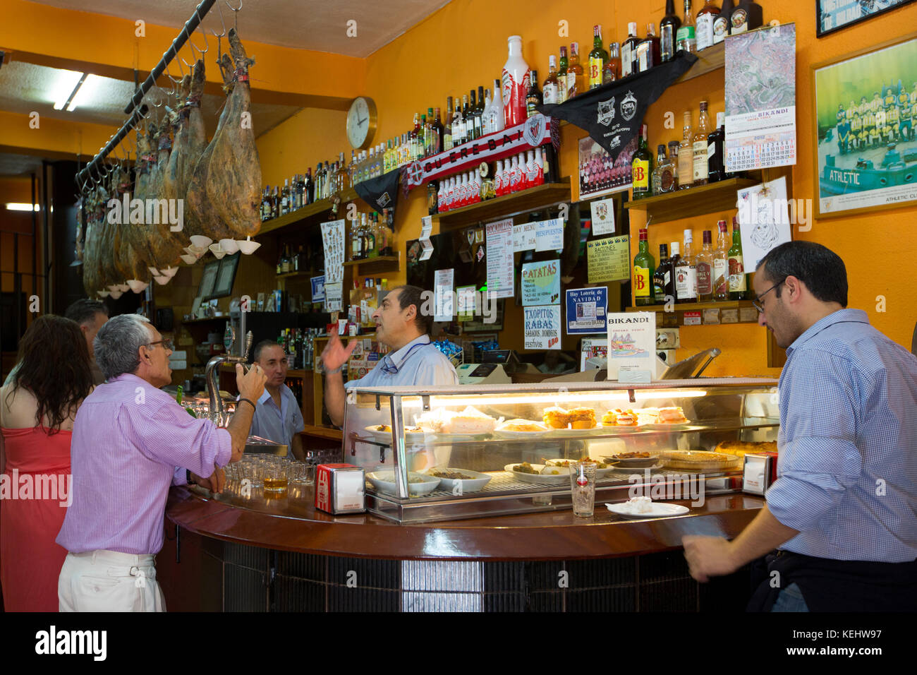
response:
[[[344,461],[399,523],[570,508],[569,462],[599,462],[596,508],[741,489],[776,451],[776,379],[348,389]]]

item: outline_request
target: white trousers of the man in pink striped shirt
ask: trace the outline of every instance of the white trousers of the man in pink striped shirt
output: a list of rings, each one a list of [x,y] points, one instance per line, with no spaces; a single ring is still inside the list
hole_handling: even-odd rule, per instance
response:
[[[156,557],[117,551],[68,553],[58,579],[61,612],[165,612]]]

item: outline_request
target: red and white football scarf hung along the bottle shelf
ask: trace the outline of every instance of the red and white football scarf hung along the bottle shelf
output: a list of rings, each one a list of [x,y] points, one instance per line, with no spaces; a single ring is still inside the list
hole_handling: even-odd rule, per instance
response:
[[[402,185],[407,189],[422,186],[427,181],[436,180],[460,171],[468,171],[481,162],[496,162],[518,152],[532,150],[547,142],[560,145],[558,121],[544,115],[535,115],[523,124],[481,136],[447,152],[440,152],[432,157],[416,160],[405,166],[402,171]]]

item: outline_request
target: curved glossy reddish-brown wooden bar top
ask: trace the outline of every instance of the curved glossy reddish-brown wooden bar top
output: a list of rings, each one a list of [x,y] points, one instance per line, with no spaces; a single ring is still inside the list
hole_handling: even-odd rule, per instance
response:
[[[207,493],[209,495],[209,493]],[[691,501],[672,503],[691,507]],[[166,517],[197,534],[318,556],[399,560],[574,560],[637,556],[679,548],[685,534],[735,537],[764,506],[754,495],[714,495],[672,518],[627,520],[596,503],[591,518],[572,511],[443,523],[398,524],[370,513],[331,515],[308,501],[232,506],[174,487]]]

